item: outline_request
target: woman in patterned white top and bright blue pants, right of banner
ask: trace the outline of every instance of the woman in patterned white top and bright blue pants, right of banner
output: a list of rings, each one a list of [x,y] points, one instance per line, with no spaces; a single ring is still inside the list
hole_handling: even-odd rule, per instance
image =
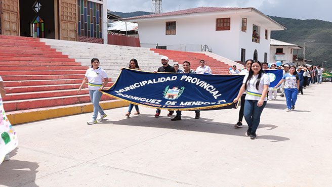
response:
[[[300,78],[296,72],[295,66],[291,66],[291,68],[289,68],[289,73],[284,74],[282,79],[276,86],[274,86],[274,88],[278,87],[283,81],[285,81],[284,90],[286,96],[287,112],[289,112],[291,110],[295,110],[295,103],[298,99],[300,86]]]

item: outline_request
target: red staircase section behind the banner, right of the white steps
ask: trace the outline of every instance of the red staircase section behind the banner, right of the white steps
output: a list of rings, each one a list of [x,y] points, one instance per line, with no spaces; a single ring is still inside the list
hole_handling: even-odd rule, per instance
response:
[[[214,58],[206,56],[202,53],[192,53],[192,52],[180,52],[180,51],[172,51],[172,50],[161,50],[161,49],[151,49],[155,53],[158,53],[162,56],[168,56],[170,59],[174,61],[174,63],[180,64],[180,69],[182,69],[181,64],[184,61],[190,62],[191,69],[196,70],[198,66],[200,66],[199,61],[204,60],[205,64],[208,65],[213,74],[228,74],[231,66],[225,64],[224,62],[218,61]]]

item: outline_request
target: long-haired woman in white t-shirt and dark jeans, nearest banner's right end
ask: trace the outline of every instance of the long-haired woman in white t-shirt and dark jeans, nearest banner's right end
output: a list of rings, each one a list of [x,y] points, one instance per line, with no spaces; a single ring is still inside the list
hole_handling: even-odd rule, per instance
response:
[[[266,94],[270,85],[270,78],[262,69],[262,64],[255,60],[249,73],[244,76],[243,84],[234,103],[237,102],[246,91],[244,104],[244,119],[248,124],[246,131],[251,139],[256,139],[256,130],[260,123],[261,114],[266,105]]]

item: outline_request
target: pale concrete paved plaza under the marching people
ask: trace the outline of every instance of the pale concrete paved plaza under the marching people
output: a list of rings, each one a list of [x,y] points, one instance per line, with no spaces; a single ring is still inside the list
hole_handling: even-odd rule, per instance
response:
[[[255,140],[245,122],[233,127],[239,109],[171,121],[144,107],[127,119],[122,107],[95,125],[92,113],[15,125],[0,186],[331,186],[331,91],[311,85],[292,112],[285,98],[268,101]]]

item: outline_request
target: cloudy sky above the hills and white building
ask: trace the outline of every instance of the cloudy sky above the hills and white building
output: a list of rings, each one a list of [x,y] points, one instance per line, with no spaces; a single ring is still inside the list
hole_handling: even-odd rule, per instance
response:
[[[151,12],[151,0],[107,0],[116,12]],[[254,7],[266,15],[332,22],[331,0],[163,0],[163,12],[196,7]]]

